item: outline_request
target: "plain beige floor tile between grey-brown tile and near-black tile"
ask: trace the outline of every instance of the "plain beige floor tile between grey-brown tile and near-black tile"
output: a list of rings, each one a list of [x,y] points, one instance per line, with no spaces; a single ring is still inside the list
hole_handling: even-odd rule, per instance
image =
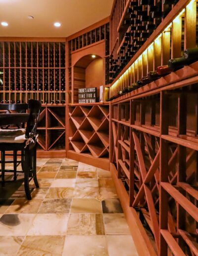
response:
[[[101,213],[101,202],[94,198],[72,199],[71,213]]]

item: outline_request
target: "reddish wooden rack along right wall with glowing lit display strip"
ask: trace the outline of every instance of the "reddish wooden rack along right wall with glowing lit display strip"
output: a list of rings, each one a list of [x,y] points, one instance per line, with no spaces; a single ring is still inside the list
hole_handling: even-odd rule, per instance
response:
[[[111,96],[197,47],[197,20],[197,1],[172,6]],[[111,101],[110,171],[140,255],[198,254],[197,85],[194,62]]]

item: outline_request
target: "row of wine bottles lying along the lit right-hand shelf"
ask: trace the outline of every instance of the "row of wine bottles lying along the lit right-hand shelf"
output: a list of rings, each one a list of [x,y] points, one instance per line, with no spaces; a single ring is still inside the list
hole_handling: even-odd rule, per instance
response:
[[[118,86],[116,88],[116,94],[111,96],[107,101],[116,99],[122,96],[123,94],[131,92],[135,89],[138,89],[152,81],[159,79],[162,76],[170,74],[171,72],[174,72],[196,61],[198,61],[198,47],[192,48],[192,49],[186,49],[182,57],[169,60],[167,65],[158,66],[156,70],[149,71],[147,76],[142,77],[142,79],[137,80],[135,83],[132,83],[127,87],[123,87],[123,83],[122,83],[121,88],[120,86]]]

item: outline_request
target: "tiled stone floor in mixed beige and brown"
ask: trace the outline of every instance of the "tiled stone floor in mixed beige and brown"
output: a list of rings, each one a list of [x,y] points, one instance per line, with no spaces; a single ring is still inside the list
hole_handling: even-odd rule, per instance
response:
[[[0,256],[138,255],[108,171],[67,158],[37,166],[31,201],[20,175],[0,187]]]

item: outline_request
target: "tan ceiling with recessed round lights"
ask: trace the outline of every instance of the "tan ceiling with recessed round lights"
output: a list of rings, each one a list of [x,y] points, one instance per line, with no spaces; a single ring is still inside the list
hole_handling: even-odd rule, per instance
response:
[[[67,37],[110,15],[113,0],[0,0],[0,36]],[[34,16],[28,19],[27,16]],[[61,27],[54,27],[60,22]]]

